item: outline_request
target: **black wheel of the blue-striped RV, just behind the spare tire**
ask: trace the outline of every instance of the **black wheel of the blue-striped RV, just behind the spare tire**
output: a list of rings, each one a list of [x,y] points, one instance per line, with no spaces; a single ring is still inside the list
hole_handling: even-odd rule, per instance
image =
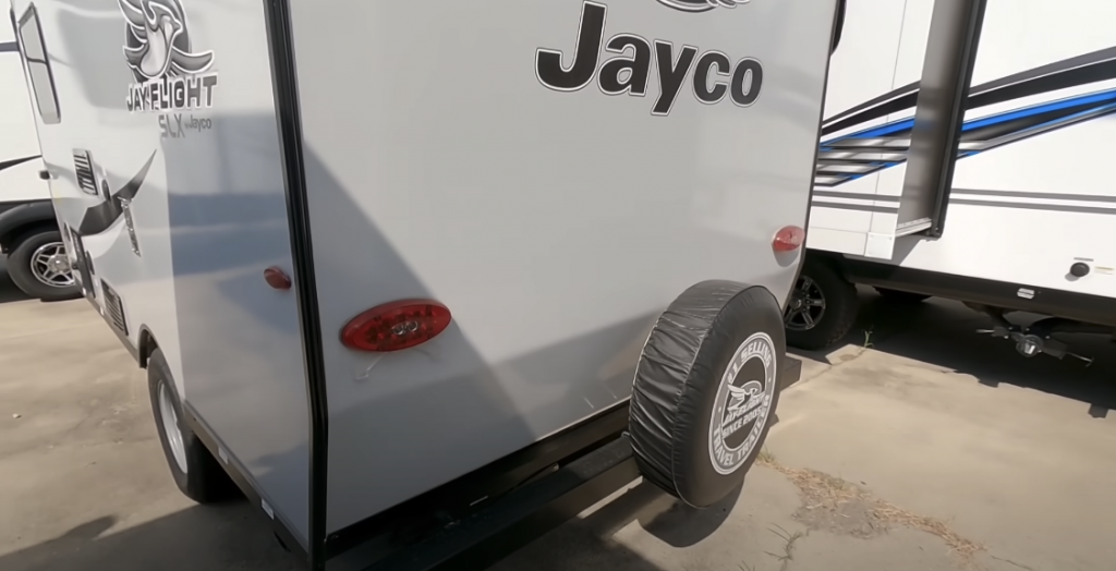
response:
[[[826,348],[856,321],[856,287],[825,259],[807,258],[783,313],[787,345]]]

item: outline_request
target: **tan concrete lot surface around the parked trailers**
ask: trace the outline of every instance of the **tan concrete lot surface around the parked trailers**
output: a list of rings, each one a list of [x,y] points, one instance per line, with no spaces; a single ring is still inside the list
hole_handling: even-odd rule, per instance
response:
[[[739,496],[693,513],[636,484],[496,570],[1113,569],[1114,347],[1024,360],[958,304],[862,300]],[[0,569],[300,569],[257,510],[177,493],[144,376],[88,304],[23,300],[2,269]]]

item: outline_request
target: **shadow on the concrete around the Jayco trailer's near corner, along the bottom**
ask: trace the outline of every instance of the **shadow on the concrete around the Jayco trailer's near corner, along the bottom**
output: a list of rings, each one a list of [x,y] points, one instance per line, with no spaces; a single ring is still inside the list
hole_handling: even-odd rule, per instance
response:
[[[721,526],[739,494],[738,488],[718,506],[699,512],[682,506],[650,484],[638,484],[587,517],[574,520],[518,551],[493,567],[493,571],[661,571],[607,538],[637,521],[671,546],[691,546]],[[118,523],[113,516],[92,520],[59,538],[0,555],[0,569],[285,571],[305,568],[278,545],[263,519],[243,501],[193,506],[115,531]]]

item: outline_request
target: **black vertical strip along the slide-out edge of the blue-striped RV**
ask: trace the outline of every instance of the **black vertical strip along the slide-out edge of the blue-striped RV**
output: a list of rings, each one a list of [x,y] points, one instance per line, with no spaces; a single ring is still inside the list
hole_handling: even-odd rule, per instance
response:
[[[953,171],[958,164],[958,147],[961,145],[961,127],[965,120],[965,110],[969,108],[969,86],[973,79],[973,68],[977,67],[977,52],[980,51],[980,35],[984,28],[984,8],[987,0],[971,0],[969,4],[969,18],[965,21],[964,45],[961,47],[961,57],[958,66],[959,75],[956,89],[953,93],[950,105],[950,124],[945,141],[946,148],[942,155],[941,171],[937,175],[937,188],[934,190],[934,210],[931,212],[931,226],[926,235],[931,238],[942,238],[945,231],[945,214],[950,205],[950,191],[953,188]]]

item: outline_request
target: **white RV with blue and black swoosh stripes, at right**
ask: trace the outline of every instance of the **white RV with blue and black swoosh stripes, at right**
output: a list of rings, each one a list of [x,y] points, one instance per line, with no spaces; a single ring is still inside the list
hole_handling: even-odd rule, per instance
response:
[[[788,342],[840,339],[855,283],[963,301],[1028,357],[1116,331],[1116,2],[849,0],[846,18]]]

